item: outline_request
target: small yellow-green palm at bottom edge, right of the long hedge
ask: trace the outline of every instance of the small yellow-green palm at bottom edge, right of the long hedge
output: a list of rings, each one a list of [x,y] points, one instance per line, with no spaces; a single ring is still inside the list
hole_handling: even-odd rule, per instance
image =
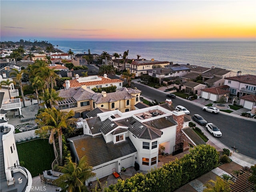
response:
[[[231,189],[229,184],[232,184],[230,180],[224,181],[222,178],[217,176],[216,181],[209,180],[208,183],[204,185],[206,188],[203,192],[230,192]]]

